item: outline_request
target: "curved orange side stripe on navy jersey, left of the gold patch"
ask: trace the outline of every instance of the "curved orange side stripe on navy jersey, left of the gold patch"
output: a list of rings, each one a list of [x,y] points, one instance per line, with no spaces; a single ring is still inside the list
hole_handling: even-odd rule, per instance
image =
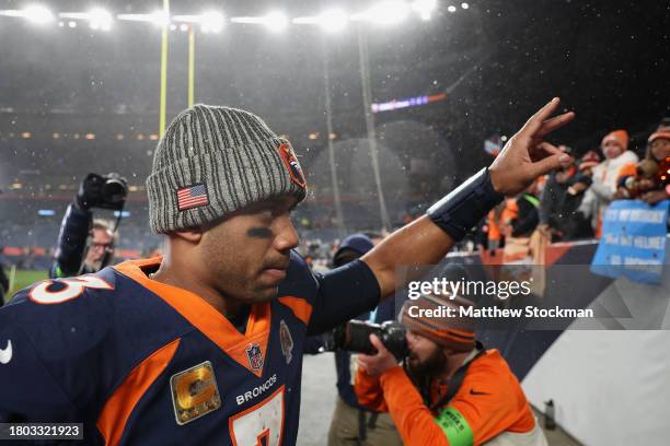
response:
[[[177,338],[153,352],[139,363],[114,390],[97,419],[97,430],[105,438],[105,444],[118,445],[130,413],[147,389],[168,367],[180,347],[180,341],[181,339]]]

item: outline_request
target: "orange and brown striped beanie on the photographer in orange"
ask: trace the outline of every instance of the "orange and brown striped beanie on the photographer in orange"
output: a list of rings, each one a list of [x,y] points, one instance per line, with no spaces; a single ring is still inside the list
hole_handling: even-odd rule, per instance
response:
[[[403,304],[398,319],[408,330],[414,330],[441,347],[455,352],[469,352],[475,347],[475,319],[461,316],[459,308],[474,307],[475,304],[464,297],[448,294],[421,294],[416,300]],[[415,307],[412,312],[411,307]],[[438,309],[439,307],[453,308],[454,316],[444,317],[414,317],[420,309]]]

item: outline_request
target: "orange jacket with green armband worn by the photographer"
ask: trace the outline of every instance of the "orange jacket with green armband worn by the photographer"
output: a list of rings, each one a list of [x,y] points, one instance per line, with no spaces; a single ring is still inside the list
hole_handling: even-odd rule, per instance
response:
[[[400,366],[379,377],[359,368],[355,390],[362,406],[390,412],[409,446],[480,445],[505,432],[530,433],[536,425],[517,377],[497,350],[474,360],[459,391],[437,409],[439,413],[430,412]],[[434,394],[438,401],[440,395]]]

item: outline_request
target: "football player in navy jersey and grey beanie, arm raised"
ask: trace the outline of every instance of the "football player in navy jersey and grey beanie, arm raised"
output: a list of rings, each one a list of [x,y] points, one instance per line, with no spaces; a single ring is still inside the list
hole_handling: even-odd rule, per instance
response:
[[[436,263],[505,195],[569,163],[543,141],[574,117],[557,106],[323,275],[293,251],[307,184],[290,143],[243,110],[186,109],[147,179],[164,257],[46,280],[0,309],[0,422],[81,422],[91,445],[293,445],[305,336],[371,310],[403,285],[396,266]]]

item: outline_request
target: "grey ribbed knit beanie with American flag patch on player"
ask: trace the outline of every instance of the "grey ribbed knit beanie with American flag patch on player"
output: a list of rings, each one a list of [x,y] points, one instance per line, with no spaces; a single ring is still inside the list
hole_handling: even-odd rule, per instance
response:
[[[165,130],[147,178],[154,233],[197,227],[278,195],[300,201],[307,184],[288,140],[257,116],[194,105]]]

